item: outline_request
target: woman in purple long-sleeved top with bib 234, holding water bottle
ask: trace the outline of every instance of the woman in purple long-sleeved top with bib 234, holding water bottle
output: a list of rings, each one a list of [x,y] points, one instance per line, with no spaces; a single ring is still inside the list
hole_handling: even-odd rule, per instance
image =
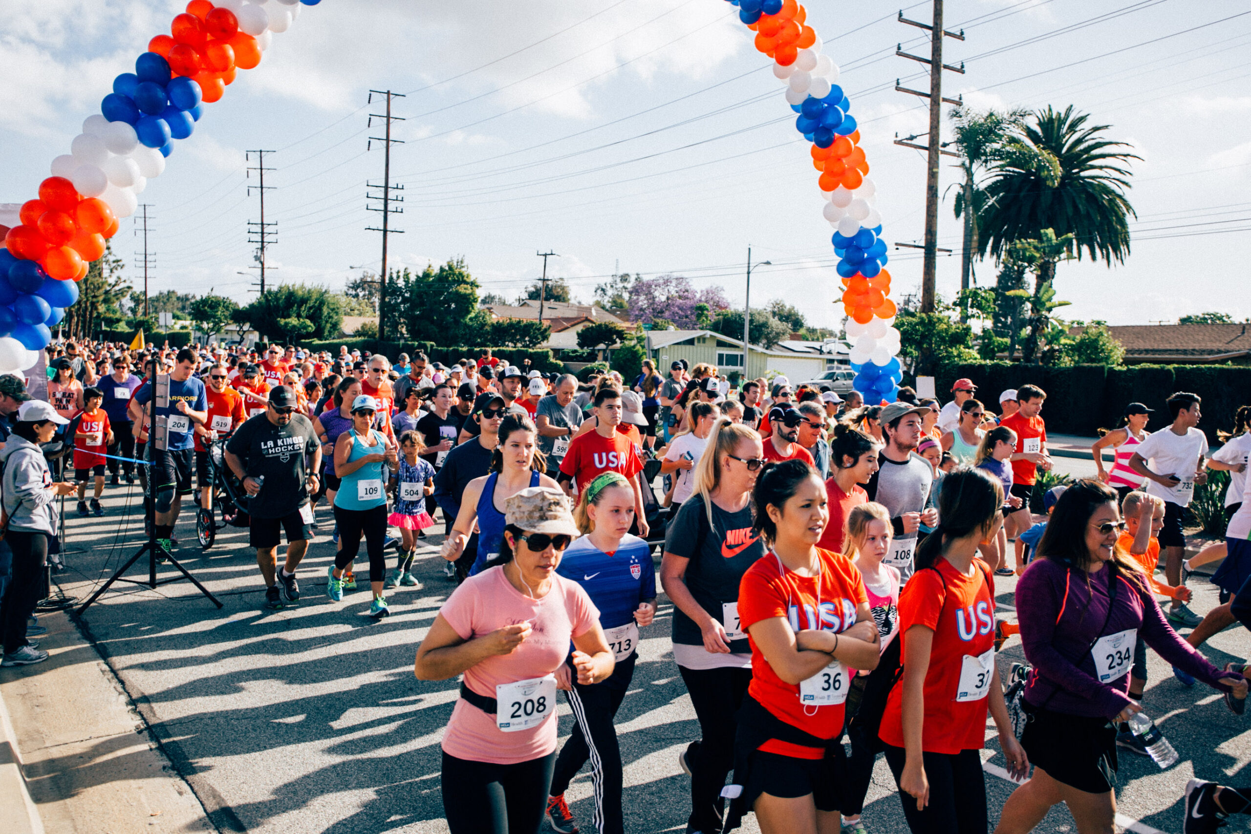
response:
[[[1140,635],[1175,668],[1246,698],[1242,675],[1216,669],[1168,625],[1146,578],[1117,545],[1123,529],[1116,491],[1077,481],[1056,501],[1038,556],[1017,583],[1021,641],[1033,665],[1021,744],[1035,768],[1003,805],[1001,834],[1033,830],[1061,801],[1080,831],[1112,830],[1113,721],[1142,709],[1126,694]]]

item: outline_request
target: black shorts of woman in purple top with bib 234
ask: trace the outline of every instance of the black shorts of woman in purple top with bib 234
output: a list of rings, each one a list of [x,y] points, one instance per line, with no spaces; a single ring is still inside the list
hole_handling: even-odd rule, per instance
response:
[[[1116,789],[1116,728],[1106,718],[1031,706],[1021,746],[1036,768],[1088,794]]]

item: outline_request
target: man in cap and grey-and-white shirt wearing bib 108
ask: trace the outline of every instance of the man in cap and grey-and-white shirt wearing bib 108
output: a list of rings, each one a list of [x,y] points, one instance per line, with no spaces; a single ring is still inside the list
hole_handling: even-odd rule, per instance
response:
[[[921,443],[921,419],[928,410],[928,406],[907,403],[891,403],[882,409],[878,420],[886,446],[878,455],[878,470],[864,486],[868,500],[884,505],[891,514],[894,536],[882,564],[897,568],[903,581],[912,575],[917,530],[922,524],[932,528],[938,523],[929,494],[933,466],[916,454]]]

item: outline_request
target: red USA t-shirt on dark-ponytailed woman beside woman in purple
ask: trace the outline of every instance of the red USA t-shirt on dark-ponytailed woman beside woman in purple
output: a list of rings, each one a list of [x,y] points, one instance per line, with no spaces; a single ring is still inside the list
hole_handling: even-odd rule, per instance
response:
[[[934,633],[929,668],[926,670],[922,749],[948,755],[982,749],[986,746],[987,698],[957,698],[962,689],[962,673],[967,676],[966,684],[975,681],[977,669],[973,659],[995,649],[995,586],[990,566],[975,559],[972,575],[965,575],[940,558],[934,569],[912,574],[899,594],[899,639],[903,640],[899,649],[903,656],[908,651],[908,629],[913,625]],[[903,746],[902,685],[894,686],[886,700],[878,735],[887,744]]]

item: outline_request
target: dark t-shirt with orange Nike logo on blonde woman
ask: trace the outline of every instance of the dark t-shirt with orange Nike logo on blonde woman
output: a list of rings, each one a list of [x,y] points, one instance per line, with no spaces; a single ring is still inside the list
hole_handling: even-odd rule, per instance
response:
[[[703,496],[696,493],[678,509],[664,536],[664,549],[676,556],[689,559],[686,583],[691,595],[701,608],[722,625],[726,623],[726,604],[738,601],[738,583],[747,569],[764,555],[764,543],[752,535],[752,508],[727,513],[712,505],[712,526]],[[703,634],[696,621],[682,609],[673,608],[673,641],[684,645],[703,645]],[[729,650],[749,654],[747,634],[729,641]]]

